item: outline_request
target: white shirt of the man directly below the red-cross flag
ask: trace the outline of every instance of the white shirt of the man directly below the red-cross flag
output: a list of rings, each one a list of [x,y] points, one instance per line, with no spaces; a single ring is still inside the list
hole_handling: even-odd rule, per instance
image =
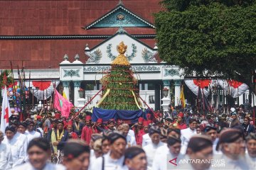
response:
[[[26,136],[16,132],[14,137],[11,140],[8,140],[7,137],[4,137],[3,143],[8,145],[11,149],[11,159],[13,161],[13,164],[11,165],[9,162],[9,166],[14,168],[15,166],[18,166],[20,164],[23,164],[25,157],[26,157],[26,148],[27,148],[27,142],[26,142]]]

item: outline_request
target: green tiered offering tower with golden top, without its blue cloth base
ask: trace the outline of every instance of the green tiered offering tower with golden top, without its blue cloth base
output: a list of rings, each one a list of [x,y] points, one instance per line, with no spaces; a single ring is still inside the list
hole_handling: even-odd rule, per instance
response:
[[[117,46],[118,57],[112,62],[110,72],[100,82],[105,89],[97,107],[108,110],[137,111],[140,102],[136,89],[137,79],[134,78],[131,64],[124,56],[127,45],[120,42]]]

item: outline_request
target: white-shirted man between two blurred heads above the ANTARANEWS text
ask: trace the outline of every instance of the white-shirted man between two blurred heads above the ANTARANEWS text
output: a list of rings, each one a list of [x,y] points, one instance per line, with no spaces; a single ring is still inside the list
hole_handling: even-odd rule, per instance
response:
[[[191,118],[189,120],[189,127],[181,130],[181,154],[186,154],[186,148],[190,138],[196,135],[196,125],[196,119]]]

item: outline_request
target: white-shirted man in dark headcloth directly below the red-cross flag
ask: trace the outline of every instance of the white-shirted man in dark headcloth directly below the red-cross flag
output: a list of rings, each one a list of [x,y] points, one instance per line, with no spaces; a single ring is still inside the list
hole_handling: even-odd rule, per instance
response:
[[[24,142],[20,138],[20,134],[16,132],[14,126],[7,126],[5,130],[6,136],[4,137],[3,143],[6,144],[11,149],[11,159],[13,161],[13,164],[11,162],[8,162],[8,166],[11,166],[11,168],[14,168],[15,166],[18,166],[20,164],[23,164],[24,159],[26,157],[26,150]]]

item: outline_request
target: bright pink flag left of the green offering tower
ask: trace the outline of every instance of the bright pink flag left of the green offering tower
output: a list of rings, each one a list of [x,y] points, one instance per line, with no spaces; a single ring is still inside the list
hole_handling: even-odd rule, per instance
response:
[[[68,118],[70,115],[70,109],[73,107],[73,104],[61,96],[56,89],[54,89],[54,108],[61,112],[61,115],[65,118]]]

